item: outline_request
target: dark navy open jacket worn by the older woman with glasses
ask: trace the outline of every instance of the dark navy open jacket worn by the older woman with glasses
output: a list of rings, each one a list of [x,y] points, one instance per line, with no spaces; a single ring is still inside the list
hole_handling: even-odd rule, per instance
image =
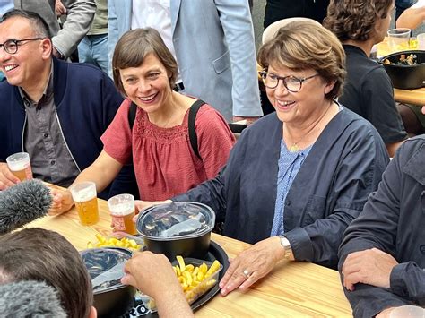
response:
[[[248,243],[270,236],[282,122],[273,113],[245,130],[216,178],[173,200],[210,205],[225,220],[223,234]],[[376,129],[343,108],[308,153],[286,197],[285,236],[295,259],[336,268],[343,231],[388,163]]]

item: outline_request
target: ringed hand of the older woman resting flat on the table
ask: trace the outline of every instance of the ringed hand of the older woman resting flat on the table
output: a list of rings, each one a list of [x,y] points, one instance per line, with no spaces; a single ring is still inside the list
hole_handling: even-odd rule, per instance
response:
[[[229,269],[219,284],[221,295],[226,296],[238,287],[246,290],[272,271],[283,256],[284,249],[278,236],[266,238],[252,245],[230,261]]]

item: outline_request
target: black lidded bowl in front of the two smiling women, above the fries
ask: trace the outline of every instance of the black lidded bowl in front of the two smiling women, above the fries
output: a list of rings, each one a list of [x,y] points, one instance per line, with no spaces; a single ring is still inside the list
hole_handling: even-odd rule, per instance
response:
[[[185,228],[188,219],[186,211],[201,218],[199,228]],[[193,217],[193,214],[192,214]],[[189,220],[190,221],[190,220]],[[145,249],[153,253],[165,254],[170,262],[177,255],[203,259],[210,248],[210,238],[215,222],[212,209],[198,202],[172,202],[153,206],[141,212],[136,221],[137,232],[143,237]],[[149,227],[149,225],[153,225]],[[179,233],[169,233],[170,229],[179,228]]]

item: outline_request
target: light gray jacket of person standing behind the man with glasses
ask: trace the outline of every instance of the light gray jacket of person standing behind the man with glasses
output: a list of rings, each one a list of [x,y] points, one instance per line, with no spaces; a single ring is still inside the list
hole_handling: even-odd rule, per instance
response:
[[[53,46],[69,57],[78,43],[91,28],[96,12],[95,0],[62,0],[67,8],[67,17],[62,29],[59,28],[55,13],[55,0],[13,0],[15,9],[39,13],[48,22],[53,35]]]

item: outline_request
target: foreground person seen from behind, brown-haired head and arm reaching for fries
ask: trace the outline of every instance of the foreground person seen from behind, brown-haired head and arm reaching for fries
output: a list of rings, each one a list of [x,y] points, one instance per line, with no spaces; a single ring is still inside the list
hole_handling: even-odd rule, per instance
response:
[[[69,318],[96,317],[89,273],[80,254],[64,236],[43,228],[24,228],[0,236],[0,285],[25,280],[44,281],[55,288]],[[164,255],[134,254],[126,263],[123,283],[155,298],[161,317],[193,316]],[[21,313],[19,308],[18,312]]]

